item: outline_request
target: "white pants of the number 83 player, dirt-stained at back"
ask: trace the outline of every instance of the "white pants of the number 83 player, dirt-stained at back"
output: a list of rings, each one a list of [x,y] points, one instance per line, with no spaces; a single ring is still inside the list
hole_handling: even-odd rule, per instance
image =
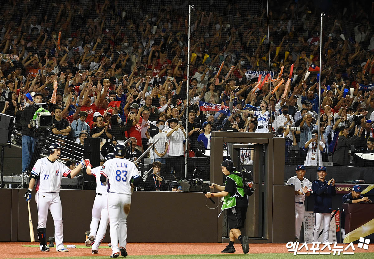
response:
[[[108,214],[112,253],[119,253],[119,247],[121,246],[126,248],[126,219],[130,210],[130,204],[130,194],[116,194],[114,192],[108,194]]]

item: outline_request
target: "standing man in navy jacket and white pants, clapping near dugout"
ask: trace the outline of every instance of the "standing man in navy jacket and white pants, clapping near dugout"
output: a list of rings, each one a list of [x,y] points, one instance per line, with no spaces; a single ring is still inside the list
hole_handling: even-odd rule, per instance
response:
[[[326,167],[318,167],[318,180],[312,183],[312,191],[315,194],[314,209],[315,227],[313,231],[313,242],[318,242],[321,227],[323,232],[323,243],[328,242],[328,234],[330,229],[331,217],[331,196],[335,196],[335,179],[332,178],[328,182],[325,180],[327,175]]]

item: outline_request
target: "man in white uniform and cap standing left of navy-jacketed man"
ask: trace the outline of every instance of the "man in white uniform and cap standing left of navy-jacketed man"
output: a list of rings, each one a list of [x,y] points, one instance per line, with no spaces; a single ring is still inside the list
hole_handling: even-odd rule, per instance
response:
[[[296,167],[296,176],[288,179],[287,183],[291,183],[295,187],[295,237],[296,241],[300,239],[301,225],[304,220],[305,213],[305,197],[310,196],[312,184],[304,177],[306,173],[304,165]]]

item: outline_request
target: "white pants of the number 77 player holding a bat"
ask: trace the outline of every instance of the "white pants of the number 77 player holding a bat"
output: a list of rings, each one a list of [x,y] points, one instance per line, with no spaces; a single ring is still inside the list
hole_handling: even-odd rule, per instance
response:
[[[45,228],[47,225],[48,210],[52,214],[55,223],[56,251],[64,248],[64,230],[62,228],[62,207],[58,192],[37,192],[35,201],[38,206],[38,228]]]

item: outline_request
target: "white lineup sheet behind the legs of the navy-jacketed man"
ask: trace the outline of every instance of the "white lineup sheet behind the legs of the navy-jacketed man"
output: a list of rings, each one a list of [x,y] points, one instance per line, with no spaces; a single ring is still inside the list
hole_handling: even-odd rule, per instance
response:
[[[332,216],[332,214],[331,214]],[[304,214],[304,240],[306,243],[313,243],[313,231],[314,231],[315,217],[313,211],[305,211]],[[335,217],[330,221],[330,231],[328,235],[329,242],[336,242],[336,223]],[[321,230],[320,230],[321,232]],[[318,238],[319,242],[323,242],[322,234]]]

